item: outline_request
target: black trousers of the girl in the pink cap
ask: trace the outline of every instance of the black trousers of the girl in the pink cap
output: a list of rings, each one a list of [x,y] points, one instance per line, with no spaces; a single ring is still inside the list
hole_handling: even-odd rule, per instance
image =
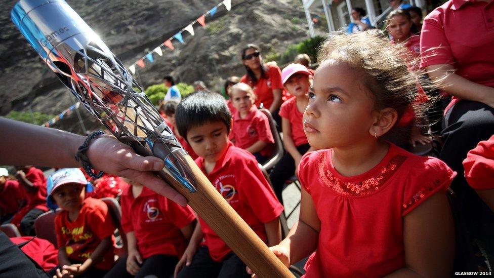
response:
[[[303,155],[309,150],[309,144],[303,144],[297,146],[297,150]],[[295,174],[295,160],[292,155],[285,151],[281,160],[274,166],[273,171],[269,174],[269,179],[273,184],[274,193],[278,197],[278,201],[283,204],[283,197],[281,192],[285,186],[286,180],[290,179]]]

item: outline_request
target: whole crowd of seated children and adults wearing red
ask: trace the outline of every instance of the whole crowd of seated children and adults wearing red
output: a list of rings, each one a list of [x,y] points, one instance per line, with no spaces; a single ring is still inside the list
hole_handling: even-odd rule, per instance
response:
[[[453,32],[460,23],[446,15],[460,11],[455,15],[484,23],[473,14],[494,16],[492,5],[450,0],[424,19],[422,32],[420,10],[396,9],[387,17],[389,36],[360,28],[331,35],[316,71],[307,55],[281,70],[250,44],[241,51],[246,74],[224,85],[227,100],[201,90],[167,99],[160,112],[203,174],[287,267],[308,257],[306,277],[448,276],[460,238],[478,244],[487,262],[494,250],[494,25],[475,25],[482,36],[467,42]],[[262,107],[278,118],[284,147],[269,179],[261,164],[274,154],[278,134]],[[424,107],[444,113],[442,131],[430,129],[437,111]],[[407,151],[433,137],[444,144],[438,158]],[[58,170],[48,183],[32,166],[16,170],[14,178],[0,169],[0,219],[33,235],[37,216],[60,209],[54,276],[251,275],[190,207],[133,180],[120,195],[127,255],[114,262],[120,223],[104,202],[86,195],[92,185],[80,170]],[[294,175],[302,185],[300,217],[282,239],[282,191]],[[451,204],[450,189],[458,194]],[[451,206],[460,208],[459,218]],[[457,234],[455,243],[458,225],[468,234]],[[490,270],[489,263],[475,267]]]

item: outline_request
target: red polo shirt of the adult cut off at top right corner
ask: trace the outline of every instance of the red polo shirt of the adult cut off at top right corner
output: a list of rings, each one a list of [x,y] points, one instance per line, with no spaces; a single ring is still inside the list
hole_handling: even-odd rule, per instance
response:
[[[422,68],[450,64],[467,80],[494,87],[493,2],[450,0],[425,17],[421,32]],[[445,111],[460,101],[452,97]]]

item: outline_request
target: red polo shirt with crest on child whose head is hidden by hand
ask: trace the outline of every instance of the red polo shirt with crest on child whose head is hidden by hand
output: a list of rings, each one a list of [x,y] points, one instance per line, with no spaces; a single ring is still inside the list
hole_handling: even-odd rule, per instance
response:
[[[134,198],[132,186],[123,191],[120,204],[122,228],[126,233],[134,231],[143,259],[157,254],[182,256],[187,242],[180,228],[195,219],[189,206],[179,206],[147,187]]]

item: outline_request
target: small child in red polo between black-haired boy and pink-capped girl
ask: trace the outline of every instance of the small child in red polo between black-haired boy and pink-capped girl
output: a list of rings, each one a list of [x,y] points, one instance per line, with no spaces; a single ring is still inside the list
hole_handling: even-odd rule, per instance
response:
[[[232,141],[235,146],[254,154],[257,162],[264,163],[271,155],[274,144],[268,117],[254,105],[254,91],[245,83],[231,88],[231,99],[237,110],[233,115]]]

